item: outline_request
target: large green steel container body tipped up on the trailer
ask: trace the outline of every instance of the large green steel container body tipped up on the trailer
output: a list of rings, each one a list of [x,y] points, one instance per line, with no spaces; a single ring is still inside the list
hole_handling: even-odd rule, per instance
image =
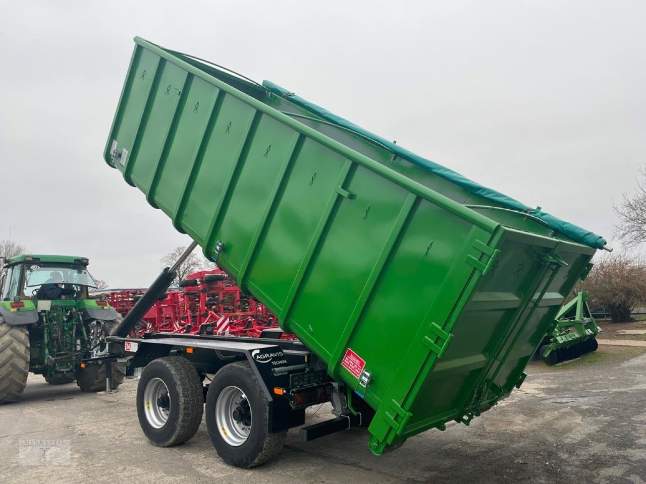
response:
[[[522,383],[594,248],[135,41],[105,161],[376,410],[375,454]]]

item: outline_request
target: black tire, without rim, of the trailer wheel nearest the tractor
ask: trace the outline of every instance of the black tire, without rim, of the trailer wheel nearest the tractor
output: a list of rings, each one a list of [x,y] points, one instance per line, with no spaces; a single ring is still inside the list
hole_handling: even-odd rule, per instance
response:
[[[166,386],[169,414],[162,427],[154,427],[146,416],[146,388],[153,379]],[[152,402],[156,405],[156,402]],[[137,387],[137,416],[143,434],[153,445],[171,447],[193,437],[202,423],[204,390],[195,367],[181,356],[154,359],[145,367]]]

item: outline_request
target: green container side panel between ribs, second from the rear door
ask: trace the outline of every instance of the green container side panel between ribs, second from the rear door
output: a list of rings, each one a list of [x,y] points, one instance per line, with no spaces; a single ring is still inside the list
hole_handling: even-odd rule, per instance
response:
[[[346,189],[357,197],[340,201],[287,321],[326,361],[355,307],[348,294],[361,294],[408,196],[362,167]]]

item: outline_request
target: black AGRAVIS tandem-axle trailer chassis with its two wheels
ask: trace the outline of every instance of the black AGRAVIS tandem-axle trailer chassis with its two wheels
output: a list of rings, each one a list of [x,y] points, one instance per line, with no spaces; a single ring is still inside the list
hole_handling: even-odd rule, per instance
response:
[[[187,441],[204,413],[218,454],[231,465],[251,467],[282,449],[287,430],[304,425],[312,405],[332,403],[335,418],[301,427],[303,441],[370,423],[374,411],[345,383],[331,380],[311,350],[279,339],[280,332],[267,333],[269,338],[109,337],[111,351],[130,358],[128,376],[145,368],[137,412],[151,443],[170,447]],[[258,417],[251,425],[253,415]]]

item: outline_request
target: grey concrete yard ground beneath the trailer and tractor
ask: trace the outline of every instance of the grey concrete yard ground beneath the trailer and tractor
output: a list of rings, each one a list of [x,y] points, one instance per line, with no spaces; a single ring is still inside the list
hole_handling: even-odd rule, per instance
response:
[[[601,347],[556,367],[532,363],[528,372],[521,390],[470,427],[426,432],[379,458],[361,429],[311,443],[291,432],[275,461],[251,470],[222,463],[204,424],[178,447],[147,443],[134,410],[136,380],[115,394],[83,394],[74,383],[30,375],[23,401],[0,407],[0,483],[645,482],[645,348]],[[310,414],[328,418],[327,410]],[[52,439],[69,441],[68,461],[64,443],[45,463],[19,454],[21,440]]]

